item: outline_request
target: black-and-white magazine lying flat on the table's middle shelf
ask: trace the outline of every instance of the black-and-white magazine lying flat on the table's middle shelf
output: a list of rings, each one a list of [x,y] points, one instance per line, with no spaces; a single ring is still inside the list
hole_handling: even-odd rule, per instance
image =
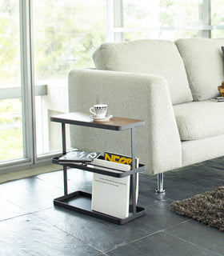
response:
[[[94,158],[98,158],[98,152],[86,152],[73,150],[58,158],[58,163],[72,163],[72,162],[92,162]]]

